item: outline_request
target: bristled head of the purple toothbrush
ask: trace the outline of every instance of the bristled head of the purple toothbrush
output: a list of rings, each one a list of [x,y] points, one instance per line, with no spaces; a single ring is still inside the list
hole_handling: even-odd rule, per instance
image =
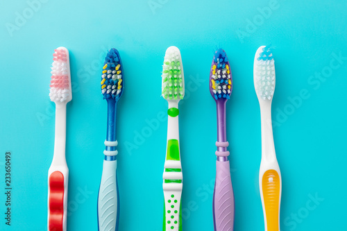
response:
[[[213,56],[210,71],[210,93],[215,101],[230,99],[232,76],[226,51],[218,49]]]

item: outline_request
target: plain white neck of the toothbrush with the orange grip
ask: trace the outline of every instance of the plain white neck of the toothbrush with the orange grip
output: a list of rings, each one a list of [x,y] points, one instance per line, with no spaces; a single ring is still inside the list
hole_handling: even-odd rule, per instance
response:
[[[262,120],[262,160],[268,162],[276,160],[275,146],[273,144],[271,102],[263,102],[260,107]]]

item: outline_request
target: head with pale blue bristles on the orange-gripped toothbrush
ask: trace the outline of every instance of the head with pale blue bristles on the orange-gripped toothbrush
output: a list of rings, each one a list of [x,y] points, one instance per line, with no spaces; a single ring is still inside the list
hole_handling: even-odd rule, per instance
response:
[[[275,92],[276,74],[275,61],[271,51],[271,45],[260,46],[254,58],[254,87],[258,99],[271,101]]]

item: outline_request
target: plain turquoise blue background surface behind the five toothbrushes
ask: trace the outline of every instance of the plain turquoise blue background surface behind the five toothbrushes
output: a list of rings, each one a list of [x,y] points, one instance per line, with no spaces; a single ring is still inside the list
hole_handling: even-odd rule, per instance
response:
[[[162,230],[167,102],[160,97],[160,72],[171,45],[180,49],[185,70],[183,229],[213,230],[217,128],[208,74],[214,49],[222,47],[234,83],[227,132],[235,230],[264,230],[253,58],[269,43],[276,48],[272,112],[283,182],[281,230],[346,228],[346,1],[28,2],[2,1],[0,7],[0,230],[46,230],[55,122],[49,82],[58,46],[69,49],[74,87],[67,105],[68,230],[97,230],[107,109],[101,64],[112,47],[119,49],[126,75],[117,116],[119,230]],[[12,152],[10,227],[3,219],[6,151]]]

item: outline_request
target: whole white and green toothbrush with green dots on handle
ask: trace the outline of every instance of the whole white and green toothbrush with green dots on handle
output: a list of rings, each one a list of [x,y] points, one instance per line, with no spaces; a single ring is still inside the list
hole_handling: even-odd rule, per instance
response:
[[[185,95],[182,58],[176,46],[170,46],[162,65],[162,97],[169,103],[167,110],[167,154],[162,175],[164,190],[165,231],[182,231],[181,195],[183,189],[182,166],[178,132],[178,102]]]

